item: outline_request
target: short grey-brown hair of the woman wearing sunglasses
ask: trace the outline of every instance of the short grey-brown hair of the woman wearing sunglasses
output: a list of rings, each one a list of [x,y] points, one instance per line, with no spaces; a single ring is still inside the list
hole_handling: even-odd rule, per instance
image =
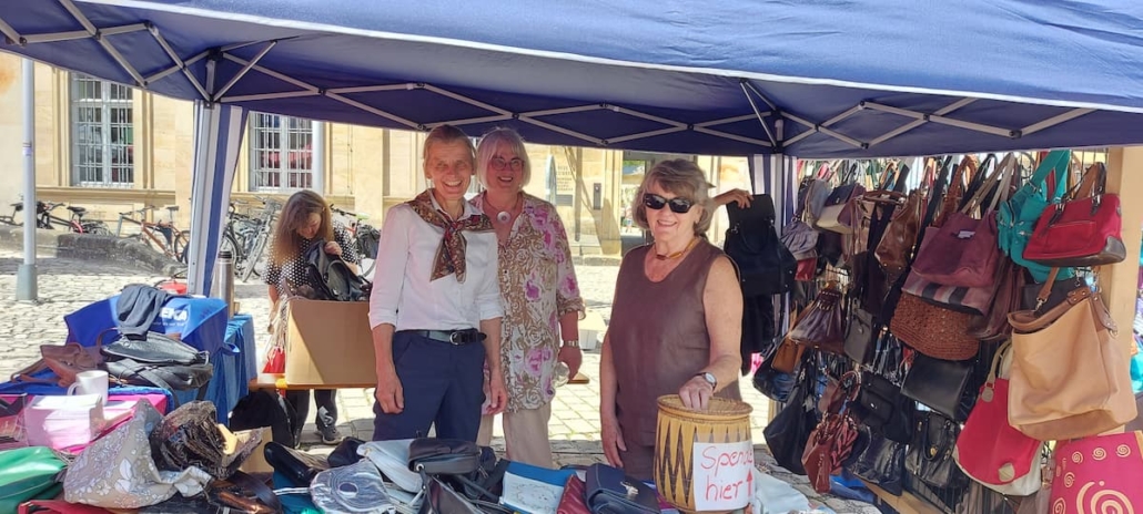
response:
[[[645,231],[649,231],[650,225],[647,223],[647,206],[644,204],[642,199],[652,185],[658,185],[670,193],[693,201],[692,209],[703,208],[703,214],[698,217],[698,223],[695,224],[695,235],[703,235],[711,227],[711,220],[714,218],[714,200],[711,199],[708,190],[713,186],[706,182],[706,174],[698,164],[686,159],[671,159],[655,164],[650,171],[647,171],[642,184],[639,184],[639,191],[636,192],[636,210],[632,214],[636,224]],[[668,208],[664,207],[664,209]]]

